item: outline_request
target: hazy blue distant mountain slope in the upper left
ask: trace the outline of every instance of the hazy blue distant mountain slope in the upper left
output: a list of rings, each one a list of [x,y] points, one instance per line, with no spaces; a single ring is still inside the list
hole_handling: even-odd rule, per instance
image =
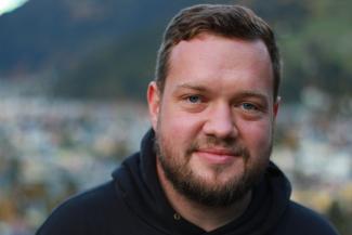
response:
[[[104,44],[165,25],[188,1],[175,2],[30,0],[0,17],[0,71],[65,67]]]

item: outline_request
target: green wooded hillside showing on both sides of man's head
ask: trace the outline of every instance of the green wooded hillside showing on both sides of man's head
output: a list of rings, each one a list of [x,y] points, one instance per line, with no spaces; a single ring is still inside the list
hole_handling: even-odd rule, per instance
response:
[[[350,95],[351,1],[243,0],[235,3],[252,8],[275,28],[284,61],[281,95],[285,101],[298,101],[305,86],[317,87],[335,97]],[[96,50],[61,74],[55,92],[75,97],[143,100],[146,84],[154,76],[164,27],[165,22],[155,22],[139,32],[95,47]]]

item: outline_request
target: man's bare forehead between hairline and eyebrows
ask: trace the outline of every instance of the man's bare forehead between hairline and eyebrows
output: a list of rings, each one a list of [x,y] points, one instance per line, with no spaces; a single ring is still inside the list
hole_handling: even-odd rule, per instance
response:
[[[181,41],[172,49],[166,86],[201,82],[218,87],[236,86],[240,81],[253,88],[270,84],[272,91],[272,80],[270,55],[261,40],[207,34]]]

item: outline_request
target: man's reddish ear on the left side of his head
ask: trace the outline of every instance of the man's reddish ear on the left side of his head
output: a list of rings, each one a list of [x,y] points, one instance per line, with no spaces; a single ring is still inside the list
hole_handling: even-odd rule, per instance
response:
[[[160,110],[160,92],[155,81],[152,81],[148,86],[147,102],[152,126],[156,130]]]

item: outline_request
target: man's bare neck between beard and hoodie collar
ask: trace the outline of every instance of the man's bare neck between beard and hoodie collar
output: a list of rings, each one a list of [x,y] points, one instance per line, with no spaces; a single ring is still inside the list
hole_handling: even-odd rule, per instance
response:
[[[157,173],[164,192],[173,209],[185,220],[209,232],[236,220],[247,209],[251,192],[240,200],[227,207],[208,207],[180,194],[166,179],[164,170],[157,162]]]

